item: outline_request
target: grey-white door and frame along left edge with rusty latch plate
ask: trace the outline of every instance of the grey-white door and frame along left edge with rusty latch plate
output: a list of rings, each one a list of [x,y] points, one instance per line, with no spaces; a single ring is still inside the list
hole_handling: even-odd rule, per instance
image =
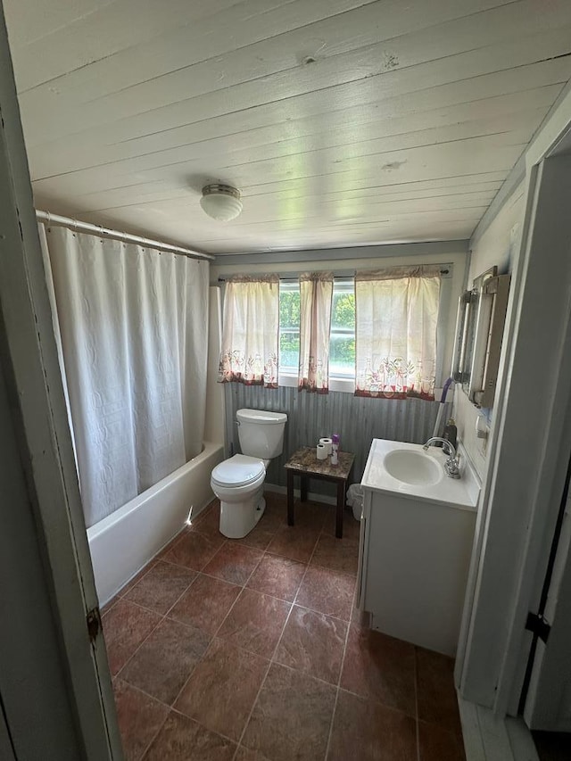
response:
[[[0,115],[0,757],[110,761],[122,750],[87,626],[97,597],[1,6]]]

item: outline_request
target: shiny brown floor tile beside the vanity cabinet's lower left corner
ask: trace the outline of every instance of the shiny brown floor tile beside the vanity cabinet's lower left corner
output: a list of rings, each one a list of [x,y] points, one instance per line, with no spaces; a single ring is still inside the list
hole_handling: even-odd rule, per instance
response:
[[[354,591],[354,576],[329,568],[310,566],[295,601],[304,608],[318,610],[327,616],[336,616],[348,621],[351,617]]]

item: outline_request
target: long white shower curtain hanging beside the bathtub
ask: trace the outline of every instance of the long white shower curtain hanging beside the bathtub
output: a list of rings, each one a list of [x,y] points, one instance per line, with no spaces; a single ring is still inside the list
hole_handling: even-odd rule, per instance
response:
[[[66,227],[40,240],[90,526],[202,450],[209,265]]]

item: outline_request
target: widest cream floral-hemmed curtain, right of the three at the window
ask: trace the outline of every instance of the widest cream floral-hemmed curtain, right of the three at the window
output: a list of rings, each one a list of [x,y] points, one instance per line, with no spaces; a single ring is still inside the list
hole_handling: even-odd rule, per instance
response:
[[[440,267],[355,277],[356,396],[434,399]]]

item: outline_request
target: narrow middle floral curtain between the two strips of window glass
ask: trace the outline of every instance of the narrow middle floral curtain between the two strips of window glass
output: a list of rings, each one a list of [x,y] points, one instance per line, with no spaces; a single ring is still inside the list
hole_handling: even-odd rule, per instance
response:
[[[329,393],[329,331],[332,272],[300,275],[300,368],[298,389]]]

